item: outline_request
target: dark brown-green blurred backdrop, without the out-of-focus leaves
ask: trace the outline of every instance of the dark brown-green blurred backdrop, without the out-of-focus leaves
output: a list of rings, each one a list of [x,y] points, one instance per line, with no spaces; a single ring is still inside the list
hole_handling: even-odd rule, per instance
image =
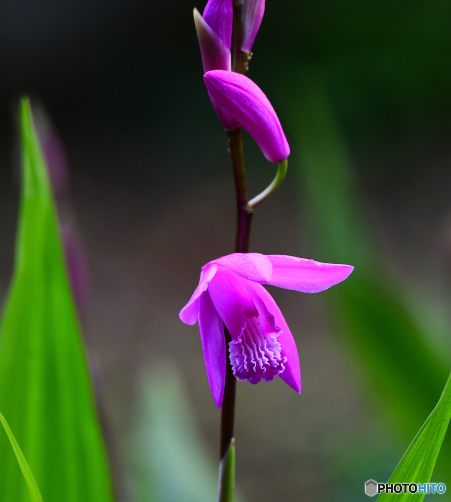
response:
[[[197,327],[177,317],[200,267],[233,251],[235,224],[230,159],[202,82],[193,7],[0,3],[0,295],[14,253],[15,115],[19,96],[30,93],[47,108],[70,165],[89,263],[84,333],[101,368],[118,472],[131,469],[125,452],[140,370],[165,361],[179,368],[200,435],[216,455],[219,413]],[[450,280],[450,26],[444,0],[269,0],[248,74],[294,150],[290,106],[306,78],[324,89],[377,253],[437,323],[448,320]],[[248,136],[245,152],[256,193],[273,166]],[[293,157],[283,186],[255,216],[251,250],[333,261],[311,256],[297,173]],[[320,295],[271,293],[295,334],[303,392],[296,396],[280,379],[238,386],[238,484],[249,501],[349,500],[366,479],[388,477],[408,443],[333,336]],[[118,484],[128,499],[126,483]]]

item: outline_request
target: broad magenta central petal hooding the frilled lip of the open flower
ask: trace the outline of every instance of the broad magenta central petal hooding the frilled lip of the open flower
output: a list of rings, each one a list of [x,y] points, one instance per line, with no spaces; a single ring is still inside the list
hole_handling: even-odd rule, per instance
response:
[[[258,316],[243,279],[223,267],[218,267],[214,278],[208,284],[208,293],[232,339],[237,340],[246,326],[247,319]]]

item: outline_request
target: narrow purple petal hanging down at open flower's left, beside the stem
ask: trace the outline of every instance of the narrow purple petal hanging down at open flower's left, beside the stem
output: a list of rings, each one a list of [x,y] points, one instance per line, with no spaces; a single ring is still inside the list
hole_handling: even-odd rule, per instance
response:
[[[199,299],[199,330],[202,341],[205,369],[213,399],[219,410],[222,407],[225,385],[225,351],[224,327],[217,314],[208,291]]]

